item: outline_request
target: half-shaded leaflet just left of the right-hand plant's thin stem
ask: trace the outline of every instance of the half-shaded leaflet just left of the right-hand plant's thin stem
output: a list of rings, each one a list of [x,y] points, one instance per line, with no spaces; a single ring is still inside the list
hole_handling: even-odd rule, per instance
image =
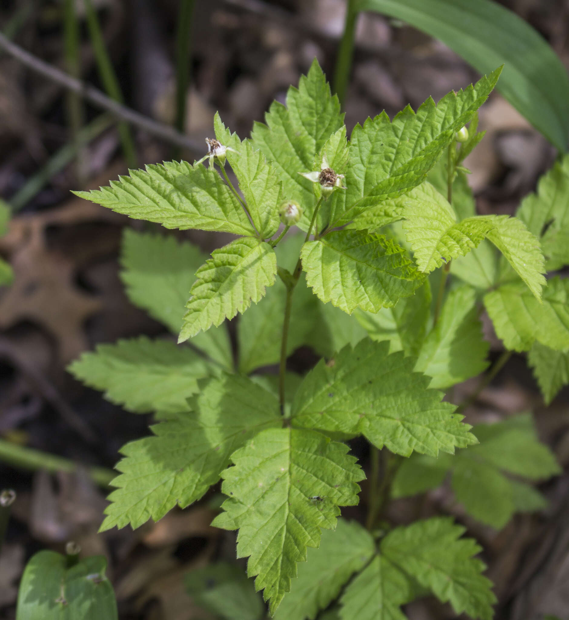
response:
[[[382,308],[377,314],[357,311],[355,316],[372,340],[389,340],[391,353],[405,351],[416,356],[425,339],[430,307],[431,287],[427,280],[413,296],[400,299],[393,308]]]

